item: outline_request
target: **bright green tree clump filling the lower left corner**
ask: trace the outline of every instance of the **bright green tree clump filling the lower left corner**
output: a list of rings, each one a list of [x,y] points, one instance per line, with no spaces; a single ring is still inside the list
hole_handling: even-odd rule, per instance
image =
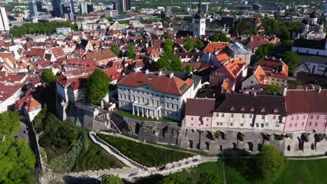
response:
[[[20,118],[17,112],[0,114],[0,183],[35,183],[34,153],[27,141],[13,138]]]

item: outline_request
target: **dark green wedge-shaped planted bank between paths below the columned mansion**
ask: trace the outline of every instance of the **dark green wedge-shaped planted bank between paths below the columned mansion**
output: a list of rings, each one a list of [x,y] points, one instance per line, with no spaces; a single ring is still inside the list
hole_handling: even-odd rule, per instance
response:
[[[158,167],[163,164],[193,156],[189,153],[150,146],[148,144],[138,143],[121,137],[101,134],[98,134],[98,136],[108,142],[111,146],[117,148],[117,150],[128,158],[131,158],[146,167]]]

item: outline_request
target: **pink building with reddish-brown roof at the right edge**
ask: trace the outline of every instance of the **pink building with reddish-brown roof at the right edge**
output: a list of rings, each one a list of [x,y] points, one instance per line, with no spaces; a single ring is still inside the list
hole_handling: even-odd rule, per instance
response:
[[[327,90],[300,89],[286,92],[287,116],[284,132],[296,130],[326,131]]]

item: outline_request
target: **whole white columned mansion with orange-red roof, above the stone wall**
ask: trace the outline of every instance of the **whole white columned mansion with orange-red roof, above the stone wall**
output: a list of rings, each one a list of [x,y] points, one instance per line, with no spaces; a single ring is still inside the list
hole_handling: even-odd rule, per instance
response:
[[[119,108],[147,118],[180,121],[187,98],[194,98],[194,80],[161,72],[131,72],[117,83]]]

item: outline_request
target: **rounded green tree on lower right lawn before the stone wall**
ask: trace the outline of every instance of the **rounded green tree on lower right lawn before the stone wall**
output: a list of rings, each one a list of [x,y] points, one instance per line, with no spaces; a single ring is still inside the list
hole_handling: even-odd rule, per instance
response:
[[[272,145],[263,145],[256,166],[266,183],[273,183],[285,168],[286,159]]]

